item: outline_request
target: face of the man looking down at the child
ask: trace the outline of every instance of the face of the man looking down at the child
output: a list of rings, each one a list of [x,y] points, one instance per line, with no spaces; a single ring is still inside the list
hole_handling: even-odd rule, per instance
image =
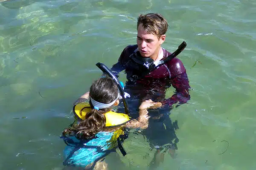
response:
[[[137,45],[140,51],[140,55],[142,57],[150,57],[153,56],[152,59],[157,57],[160,45],[164,42],[165,35],[162,35],[160,39],[158,39],[157,35],[148,34],[143,25],[140,24],[137,30]]]

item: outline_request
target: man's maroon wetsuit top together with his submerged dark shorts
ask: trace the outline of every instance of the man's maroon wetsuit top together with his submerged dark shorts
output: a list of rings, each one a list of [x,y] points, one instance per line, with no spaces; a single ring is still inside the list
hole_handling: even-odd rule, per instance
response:
[[[137,109],[141,102],[152,99],[161,102],[163,107],[150,111],[148,128],[143,130],[152,147],[167,146],[177,149],[179,139],[175,134],[178,128],[177,121],[172,122],[169,117],[172,105],[179,102],[183,104],[190,99],[189,80],[183,63],[177,57],[155,69],[151,73],[140,77],[141,67],[135,63],[130,56],[134,54],[137,45],[129,45],[123,51],[116,64],[111,70],[116,76],[125,70],[127,82],[125,92],[131,95],[127,99],[130,116],[137,118]],[[163,48],[163,59],[171,53]],[[169,99],[165,99],[166,89],[173,86],[176,91]]]

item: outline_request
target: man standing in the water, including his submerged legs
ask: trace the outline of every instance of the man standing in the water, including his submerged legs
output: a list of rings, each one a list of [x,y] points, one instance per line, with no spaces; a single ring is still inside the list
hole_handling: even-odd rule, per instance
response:
[[[125,70],[128,79],[125,91],[132,97],[131,100],[128,100],[131,113],[136,113],[132,111],[133,108],[137,108],[140,102],[146,99],[152,99],[154,102],[161,102],[164,105],[161,110],[153,111],[149,127],[143,131],[150,143],[159,149],[152,162],[155,165],[159,164],[159,161],[156,161],[159,160],[157,155],[163,157],[159,154],[163,150],[163,146],[168,147],[172,156],[177,149],[178,139],[175,130],[178,127],[177,122],[172,123],[169,119],[170,108],[177,102],[183,104],[190,99],[189,80],[180,59],[175,57],[158,68],[147,69],[150,68],[150,63],[163,61],[171,54],[161,47],[166,40],[167,29],[168,23],[161,14],[140,15],[137,20],[137,45],[127,46],[111,69],[115,74]],[[169,99],[165,99],[166,89],[171,85],[176,89],[175,94]],[[131,116],[136,117],[135,115]],[[166,149],[163,152],[166,152]]]

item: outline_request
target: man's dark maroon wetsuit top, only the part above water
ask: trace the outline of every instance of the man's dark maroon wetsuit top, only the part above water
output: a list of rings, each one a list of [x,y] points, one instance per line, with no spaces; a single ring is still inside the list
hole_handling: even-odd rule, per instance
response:
[[[119,73],[125,70],[128,82],[126,82],[125,91],[131,93],[131,96],[141,101],[152,99],[155,102],[162,102],[172,106],[179,102],[183,104],[190,99],[189,96],[189,79],[183,63],[175,57],[174,59],[161,65],[143,78],[140,77],[140,68],[137,63],[131,60],[130,55],[137,49],[137,45],[129,45],[123,51],[116,64],[113,65],[112,71]],[[171,53],[163,48],[163,59]],[[165,99],[166,89],[173,86],[176,91],[169,99]]]

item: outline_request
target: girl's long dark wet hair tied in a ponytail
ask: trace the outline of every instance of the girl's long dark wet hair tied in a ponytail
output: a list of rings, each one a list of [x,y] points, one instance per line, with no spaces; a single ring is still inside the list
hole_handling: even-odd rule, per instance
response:
[[[116,82],[108,76],[97,79],[90,87],[90,97],[97,102],[105,104],[113,102],[117,98],[118,93],[119,91]],[[111,111],[113,105],[108,108],[97,110],[93,108],[94,106],[91,101],[89,103],[92,110],[86,113],[85,119],[78,125],[73,125],[72,127],[64,129],[62,132],[64,136],[71,134],[79,139],[90,139],[106,126],[106,117],[104,113]]]

